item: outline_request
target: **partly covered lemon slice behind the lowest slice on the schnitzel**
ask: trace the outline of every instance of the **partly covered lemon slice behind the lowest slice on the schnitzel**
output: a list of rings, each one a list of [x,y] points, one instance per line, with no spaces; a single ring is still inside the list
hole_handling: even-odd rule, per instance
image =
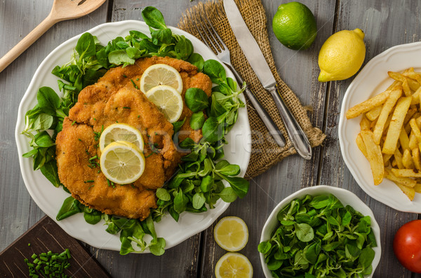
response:
[[[114,123],[107,127],[100,137],[100,150],[102,151],[106,146],[115,141],[128,141],[143,151],[143,137],[140,131],[126,123]]]

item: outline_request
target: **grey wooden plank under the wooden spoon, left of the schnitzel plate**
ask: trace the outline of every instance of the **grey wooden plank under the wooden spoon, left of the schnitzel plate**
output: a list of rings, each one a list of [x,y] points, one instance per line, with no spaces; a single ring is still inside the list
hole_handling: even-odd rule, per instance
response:
[[[1,1],[0,56],[44,20],[51,3],[49,0]],[[0,250],[44,216],[29,196],[20,174],[14,135],[20,99],[36,68],[51,50],[72,36],[105,22],[106,16],[105,4],[84,18],[58,23],[0,73]]]

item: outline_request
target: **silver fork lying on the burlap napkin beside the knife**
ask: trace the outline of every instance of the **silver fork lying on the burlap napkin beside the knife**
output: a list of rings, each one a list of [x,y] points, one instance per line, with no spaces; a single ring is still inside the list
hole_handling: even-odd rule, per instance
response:
[[[227,46],[225,46],[225,43],[219,36],[218,32],[216,32],[215,28],[213,28],[212,24],[210,24],[208,18],[202,17],[201,15],[197,16],[201,18],[201,20],[197,20],[197,22],[201,21],[204,23],[203,25],[205,26],[203,27],[202,25],[194,25],[194,28],[196,28],[196,31],[199,33],[199,36],[201,36],[203,43],[205,43],[206,46],[208,46],[208,48],[212,49],[216,57],[218,57],[232,71],[237,83],[243,84],[244,80],[236,71],[236,69],[234,69],[234,67],[232,66],[229,50]],[[194,17],[196,17],[196,15],[194,15]],[[281,131],[278,129],[278,127],[276,127],[272,118],[270,118],[269,114],[263,108],[262,104],[260,104],[259,100],[255,97],[253,92],[251,92],[248,89],[247,85],[244,90],[244,94],[248,97],[251,104],[258,112],[258,115],[267,127],[269,134],[272,135],[272,138],[275,140],[276,144],[278,144],[278,146],[280,146],[281,148],[285,146],[285,141],[282,138]]]

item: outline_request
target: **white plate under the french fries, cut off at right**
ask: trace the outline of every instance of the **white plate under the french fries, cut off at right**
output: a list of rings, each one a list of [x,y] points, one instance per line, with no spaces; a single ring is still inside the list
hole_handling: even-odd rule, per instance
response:
[[[350,120],[345,117],[349,108],[379,94],[392,84],[387,71],[403,71],[410,67],[421,71],[421,42],[394,46],[370,60],[345,92],[338,132],[340,150],[349,172],[368,195],[399,211],[421,213],[421,194],[415,193],[414,200],[410,202],[401,189],[388,179],[383,179],[378,186],[374,185],[370,163],[355,143],[360,132],[361,116]]]

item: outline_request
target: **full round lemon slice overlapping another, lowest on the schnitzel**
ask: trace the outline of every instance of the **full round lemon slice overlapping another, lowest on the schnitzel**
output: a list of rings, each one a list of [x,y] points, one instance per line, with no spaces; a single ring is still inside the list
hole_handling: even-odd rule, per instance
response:
[[[109,181],[128,184],[142,176],[145,156],[137,146],[127,141],[112,142],[102,151],[100,165]]]

